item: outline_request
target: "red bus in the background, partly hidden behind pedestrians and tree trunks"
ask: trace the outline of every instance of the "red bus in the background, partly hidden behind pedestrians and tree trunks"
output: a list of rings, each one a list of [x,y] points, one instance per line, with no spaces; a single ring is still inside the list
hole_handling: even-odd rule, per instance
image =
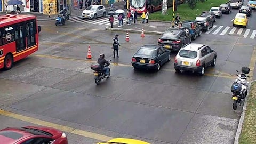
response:
[[[173,5],[173,0],[167,0],[168,7]],[[137,13],[147,12],[149,13],[162,10],[162,0],[130,0],[130,9],[136,9]],[[180,4],[183,3],[184,0],[180,0]]]

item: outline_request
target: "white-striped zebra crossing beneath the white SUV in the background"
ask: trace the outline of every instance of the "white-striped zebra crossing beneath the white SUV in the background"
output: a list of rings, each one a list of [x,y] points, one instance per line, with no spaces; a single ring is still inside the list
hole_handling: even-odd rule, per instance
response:
[[[77,17],[71,17],[69,22],[76,22],[76,23],[88,23],[92,25],[105,25],[105,26],[110,26],[109,22],[109,17],[101,17],[98,19],[83,19],[82,16],[77,16]],[[127,21],[127,19],[124,19],[124,23]],[[119,21],[117,17],[114,17],[114,25],[117,24]]]

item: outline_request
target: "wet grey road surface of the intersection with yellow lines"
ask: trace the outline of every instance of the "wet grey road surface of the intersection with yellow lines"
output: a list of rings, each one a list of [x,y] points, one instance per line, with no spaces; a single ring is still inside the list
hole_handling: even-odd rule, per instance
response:
[[[235,10],[217,24],[229,25],[225,23],[233,14]],[[253,13],[249,27],[255,27],[255,17]],[[217,65],[205,76],[176,74],[175,53],[154,73],[134,71],[130,63],[138,47],[156,44],[159,35],[141,38],[130,33],[130,42],[125,42],[126,33],[93,23],[70,23],[55,27],[54,21],[39,22],[39,51],[0,72],[0,129],[57,127],[67,131],[69,143],[117,137],[150,143],[233,142],[242,107],[232,110],[230,86],[236,69],[250,66],[253,74],[254,39],[202,34],[193,43],[207,44],[218,53]],[[113,59],[111,38],[117,33],[120,58]],[[86,59],[89,45],[91,60]],[[113,65],[110,78],[97,86],[90,65],[102,52]]]

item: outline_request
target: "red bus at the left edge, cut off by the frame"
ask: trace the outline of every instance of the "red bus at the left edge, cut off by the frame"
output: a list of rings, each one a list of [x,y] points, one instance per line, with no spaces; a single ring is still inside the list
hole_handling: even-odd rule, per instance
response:
[[[33,15],[7,14],[0,17],[0,69],[38,50],[38,26]]]

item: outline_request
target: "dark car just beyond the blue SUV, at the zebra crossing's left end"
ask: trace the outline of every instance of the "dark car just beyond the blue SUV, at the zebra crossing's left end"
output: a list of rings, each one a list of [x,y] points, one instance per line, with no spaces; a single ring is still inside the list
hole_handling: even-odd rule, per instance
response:
[[[209,17],[196,17],[196,22],[205,31],[213,27],[213,21]]]

